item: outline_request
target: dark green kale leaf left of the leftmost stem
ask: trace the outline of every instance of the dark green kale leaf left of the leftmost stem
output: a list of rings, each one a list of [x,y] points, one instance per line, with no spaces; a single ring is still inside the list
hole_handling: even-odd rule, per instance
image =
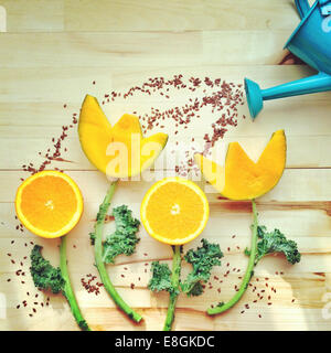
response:
[[[40,289],[51,290],[54,295],[64,293],[65,280],[62,277],[60,267],[53,267],[41,254],[42,246],[34,245],[30,258],[30,272],[34,286]]]

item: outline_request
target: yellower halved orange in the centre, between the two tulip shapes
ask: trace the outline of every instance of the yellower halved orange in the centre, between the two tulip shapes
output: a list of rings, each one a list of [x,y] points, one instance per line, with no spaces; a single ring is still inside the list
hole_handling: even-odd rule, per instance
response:
[[[183,178],[166,178],[146,193],[140,208],[147,233],[157,240],[182,245],[204,229],[210,206],[204,192]]]

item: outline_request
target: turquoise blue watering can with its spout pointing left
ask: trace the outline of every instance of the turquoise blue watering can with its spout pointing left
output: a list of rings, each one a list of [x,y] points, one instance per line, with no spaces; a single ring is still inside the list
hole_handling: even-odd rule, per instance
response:
[[[311,8],[308,0],[296,0],[296,4],[301,22],[285,47],[319,73],[268,89],[245,78],[253,119],[263,109],[264,100],[331,90],[331,0],[317,0]]]

